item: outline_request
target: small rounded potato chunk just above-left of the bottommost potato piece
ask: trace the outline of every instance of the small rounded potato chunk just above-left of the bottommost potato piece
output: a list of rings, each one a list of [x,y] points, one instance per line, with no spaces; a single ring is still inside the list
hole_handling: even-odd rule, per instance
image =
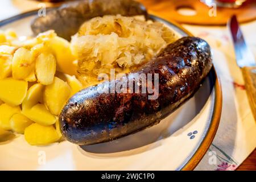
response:
[[[16,133],[24,133],[26,127],[30,126],[33,122],[23,114],[14,114],[10,119],[11,130]]]

